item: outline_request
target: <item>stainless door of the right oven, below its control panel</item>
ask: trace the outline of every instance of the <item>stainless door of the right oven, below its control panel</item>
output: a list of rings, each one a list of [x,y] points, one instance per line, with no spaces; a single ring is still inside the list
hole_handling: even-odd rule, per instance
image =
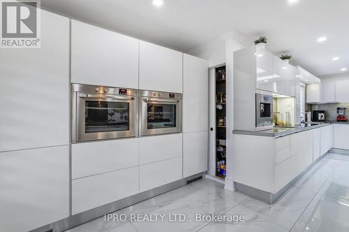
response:
[[[141,135],[181,132],[181,100],[142,98]]]

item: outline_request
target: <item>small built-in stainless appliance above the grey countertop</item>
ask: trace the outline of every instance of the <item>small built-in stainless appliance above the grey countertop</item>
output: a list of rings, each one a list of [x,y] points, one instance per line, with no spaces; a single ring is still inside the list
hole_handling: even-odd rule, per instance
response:
[[[255,94],[255,127],[273,125],[273,95]]]

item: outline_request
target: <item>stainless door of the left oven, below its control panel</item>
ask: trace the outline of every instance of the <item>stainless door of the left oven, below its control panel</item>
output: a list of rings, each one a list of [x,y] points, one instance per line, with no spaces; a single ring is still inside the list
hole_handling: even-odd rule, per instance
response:
[[[135,97],[77,93],[76,102],[76,141],[135,137]]]

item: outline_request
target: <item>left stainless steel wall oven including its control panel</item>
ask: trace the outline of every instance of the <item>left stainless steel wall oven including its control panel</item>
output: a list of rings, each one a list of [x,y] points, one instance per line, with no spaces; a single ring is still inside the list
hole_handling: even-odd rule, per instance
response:
[[[138,91],[72,84],[72,141],[138,136]]]

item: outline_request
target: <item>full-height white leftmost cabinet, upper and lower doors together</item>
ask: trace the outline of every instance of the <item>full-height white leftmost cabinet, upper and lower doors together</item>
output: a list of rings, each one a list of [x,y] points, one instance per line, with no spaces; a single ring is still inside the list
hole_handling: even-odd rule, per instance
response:
[[[69,20],[40,26],[39,49],[0,52],[0,231],[69,216]]]

